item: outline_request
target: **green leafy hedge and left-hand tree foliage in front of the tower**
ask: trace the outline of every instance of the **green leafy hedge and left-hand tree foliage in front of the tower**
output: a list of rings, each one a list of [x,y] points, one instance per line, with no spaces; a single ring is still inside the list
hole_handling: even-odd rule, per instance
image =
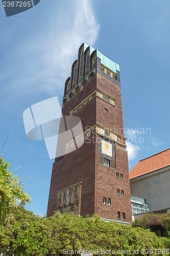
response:
[[[9,164],[1,158],[0,253],[3,255],[52,256],[63,254],[63,249],[114,250],[115,254],[118,250],[130,250],[131,254],[133,250],[139,250],[138,255],[143,255],[142,249],[166,249],[170,246],[169,239],[157,237],[150,230],[105,222],[98,215],[83,218],[58,212],[50,218],[36,216],[23,207],[26,202],[30,202],[30,197],[8,168]],[[164,223],[169,225],[169,219]],[[121,252],[118,254],[126,255]]]

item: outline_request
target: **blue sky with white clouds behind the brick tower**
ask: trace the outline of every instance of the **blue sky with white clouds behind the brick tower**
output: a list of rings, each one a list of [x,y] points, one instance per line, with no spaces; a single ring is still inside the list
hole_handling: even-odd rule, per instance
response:
[[[35,214],[46,214],[54,160],[44,141],[27,138],[22,114],[54,96],[62,104],[82,42],[120,66],[129,168],[169,148],[169,9],[167,0],[41,0],[6,17],[0,6],[1,148],[17,137],[5,160],[24,177]]]

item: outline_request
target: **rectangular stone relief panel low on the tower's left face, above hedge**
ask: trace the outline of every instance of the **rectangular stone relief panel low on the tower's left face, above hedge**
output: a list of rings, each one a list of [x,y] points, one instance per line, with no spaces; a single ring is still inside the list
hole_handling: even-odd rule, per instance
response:
[[[80,215],[82,183],[78,183],[57,192],[56,211],[73,212]]]

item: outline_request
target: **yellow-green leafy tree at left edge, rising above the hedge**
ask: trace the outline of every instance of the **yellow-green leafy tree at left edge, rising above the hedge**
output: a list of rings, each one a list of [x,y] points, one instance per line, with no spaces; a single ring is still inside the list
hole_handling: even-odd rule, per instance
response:
[[[11,206],[31,204],[31,198],[23,191],[20,179],[9,171],[10,164],[0,158],[0,223]]]

